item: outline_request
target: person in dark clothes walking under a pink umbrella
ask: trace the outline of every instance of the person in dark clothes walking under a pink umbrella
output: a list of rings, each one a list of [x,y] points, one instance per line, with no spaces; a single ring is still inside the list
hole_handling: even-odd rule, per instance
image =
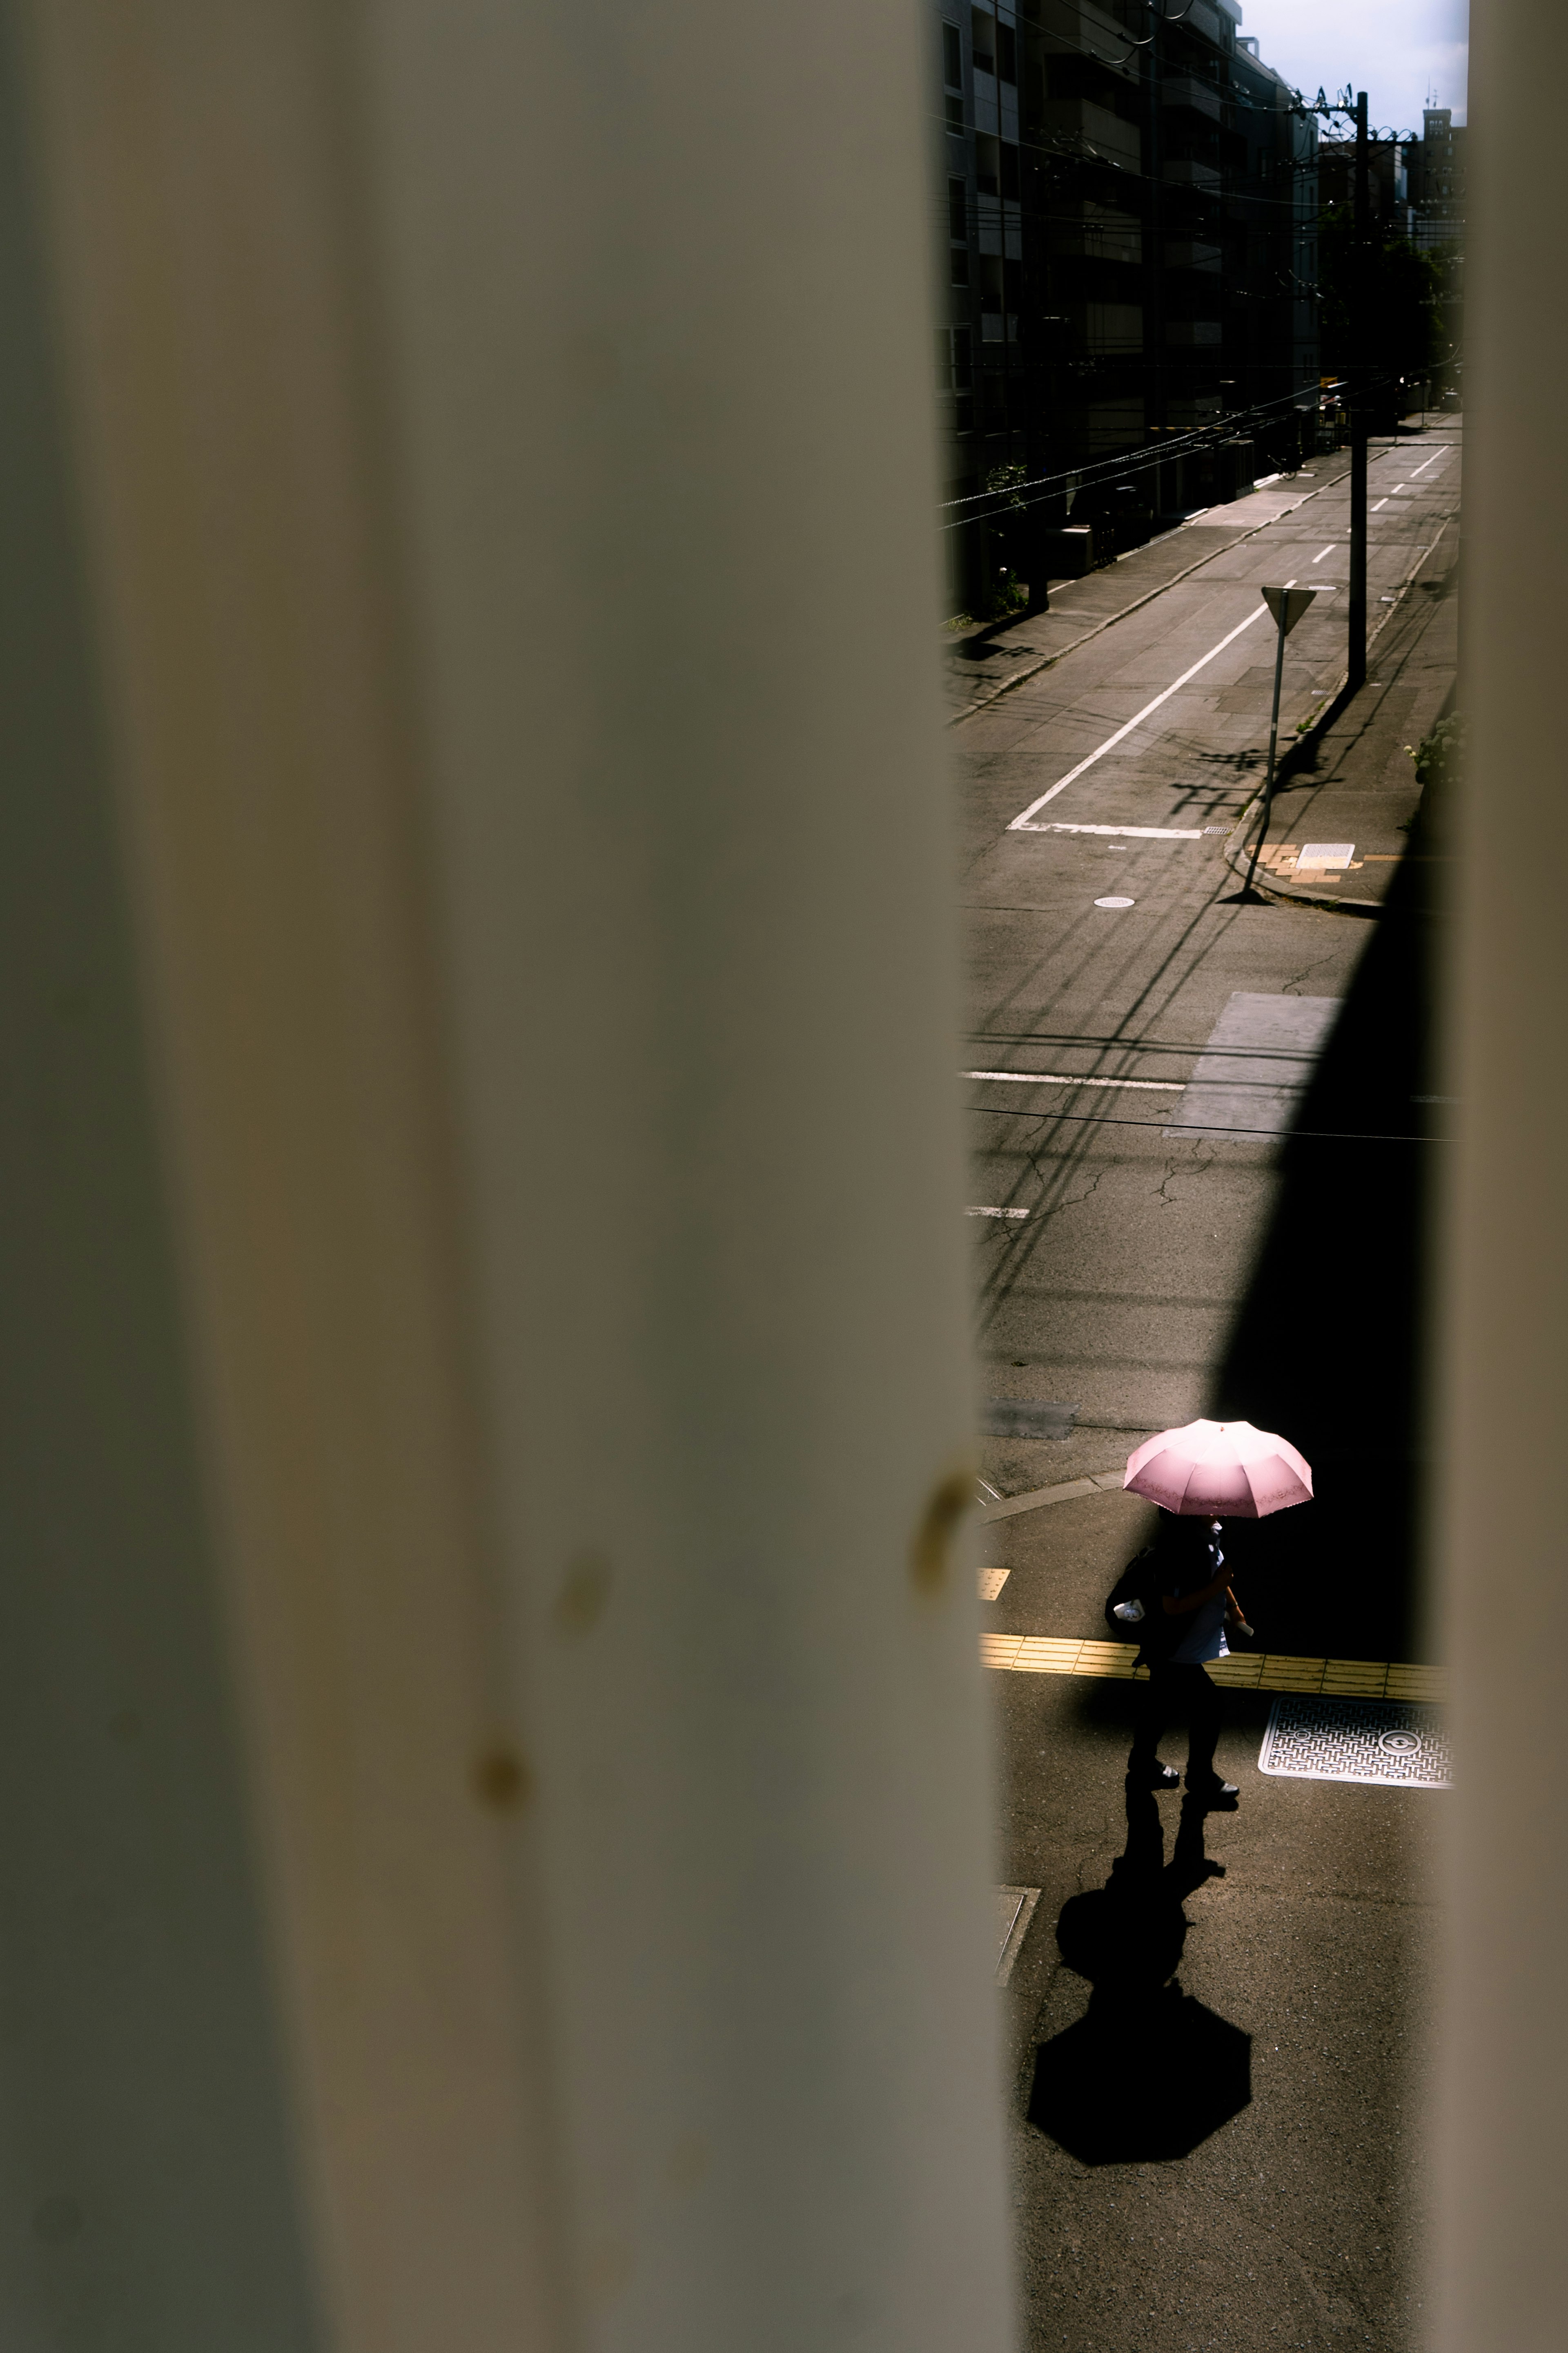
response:
[[[1157,1546],[1154,1607],[1143,1645],[1150,1680],[1126,1762],[1128,1786],[1178,1786],[1180,1774],[1159,1760],[1159,1741],[1171,1715],[1185,1713],[1187,1793],[1208,1809],[1234,1812],[1239,1791],[1213,1762],[1220,1694],[1204,1673],[1211,1659],[1229,1654],[1227,1621],[1244,1624],[1220,1551],[1222,1518],[1260,1520],[1309,1501],[1312,1468],[1286,1438],[1255,1431],[1251,1421],[1190,1421],[1138,1447],[1121,1485],[1168,1513]],[[1194,1527],[1182,1544],[1180,1520],[1208,1527]]]

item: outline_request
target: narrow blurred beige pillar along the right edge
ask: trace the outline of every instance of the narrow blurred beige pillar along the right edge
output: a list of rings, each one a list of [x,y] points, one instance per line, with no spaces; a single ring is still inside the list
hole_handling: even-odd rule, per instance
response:
[[[1443,2038],[1448,2353],[1556,2353],[1568,2313],[1568,925],[1561,889],[1568,16],[1472,19],[1467,831],[1448,1221],[1446,1574],[1460,1784]]]

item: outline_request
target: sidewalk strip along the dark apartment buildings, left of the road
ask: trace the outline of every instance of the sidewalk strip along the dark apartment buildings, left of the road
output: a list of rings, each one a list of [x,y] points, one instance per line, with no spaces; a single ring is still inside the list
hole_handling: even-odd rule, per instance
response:
[[[1279,475],[1229,506],[1206,508],[1178,529],[1150,539],[1147,546],[1131,548],[1100,572],[1088,572],[1077,581],[1051,581],[1046,612],[1020,614],[1018,621],[1006,624],[976,621],[961,633],[947,631],[947,722],[985,711],[999,694],[1039,671],[1048,671],[1063,654],[1072,654],[1103,628],[1138,612],[1161,588],[1171,588],[1178,579],[1225,555],[1324,489],[1335,489],[1347,475],[1349,454],[1333,449],[1312,459],[1300,473]]]

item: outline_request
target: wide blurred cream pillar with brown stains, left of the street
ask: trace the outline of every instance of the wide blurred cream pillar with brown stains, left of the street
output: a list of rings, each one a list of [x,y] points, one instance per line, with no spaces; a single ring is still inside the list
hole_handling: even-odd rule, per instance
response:
[[[919,12],[31,38],[327,2344],[999,2353]]]

